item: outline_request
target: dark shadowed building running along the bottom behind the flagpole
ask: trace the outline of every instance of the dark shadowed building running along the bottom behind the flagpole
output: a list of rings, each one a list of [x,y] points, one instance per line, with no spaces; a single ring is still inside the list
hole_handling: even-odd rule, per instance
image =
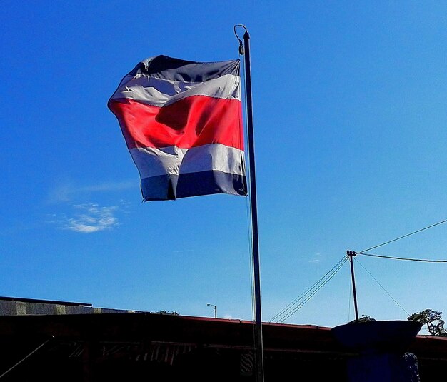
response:
[[[2,381],[254,381],[251,321],[1,297],[0,313]],[[319,326],[265,323],[263,342],[266,382],[346,381],[356,356]],[[445,376],[447,338],[408,351],[421,381]]]

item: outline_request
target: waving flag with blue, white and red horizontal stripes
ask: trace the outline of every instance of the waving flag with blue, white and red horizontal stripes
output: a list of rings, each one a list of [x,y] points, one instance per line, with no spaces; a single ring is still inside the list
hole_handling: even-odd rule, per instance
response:
[[[141,178],[144,201],[245,196],[239,61],[155,56],[109,99]]]

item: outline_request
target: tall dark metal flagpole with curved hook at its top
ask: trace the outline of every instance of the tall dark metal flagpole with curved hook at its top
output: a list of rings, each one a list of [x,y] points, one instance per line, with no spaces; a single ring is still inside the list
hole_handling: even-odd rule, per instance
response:
[[[242,41],[236,34],[236,26],[245,29]],[[245,61],[246,96],[247,96],[247,131],[248,131],[248,164],[250,168],[250,201],[251,201],[251,230],[253,242],[253,278],[255,294],[255,360],[256,382],[263,382],[263,341],[261,317],[261,278],[259,273],[259,239],[258,239],[258,206],[256,202],[256,171],[254,161],[254,134],[253,134],[253,104],[251,99],[251,67],[250,67],[250,35],[246,26],[234,26],[234,34],[239,40],[239,53],[243,54]]]

